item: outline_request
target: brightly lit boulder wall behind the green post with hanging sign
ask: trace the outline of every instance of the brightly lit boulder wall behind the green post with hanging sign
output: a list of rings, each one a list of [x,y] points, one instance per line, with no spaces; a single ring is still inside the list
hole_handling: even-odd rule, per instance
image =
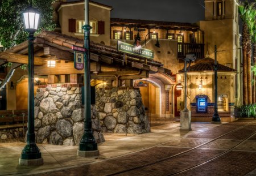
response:
[[[37,143],[79,145],[84,134],[84,108],[80,87],[47,85],[35,96],[35,133]],[[91,106],[92,131],[97,143],[105,141],[96,107]]]

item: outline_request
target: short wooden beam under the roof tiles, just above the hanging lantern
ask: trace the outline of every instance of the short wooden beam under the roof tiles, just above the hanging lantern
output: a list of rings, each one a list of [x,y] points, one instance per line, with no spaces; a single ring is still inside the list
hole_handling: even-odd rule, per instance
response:
[[[74,61],[74,54],[52,47],[44,47],[44,55],[55,55],[56,58],[66,61]]]

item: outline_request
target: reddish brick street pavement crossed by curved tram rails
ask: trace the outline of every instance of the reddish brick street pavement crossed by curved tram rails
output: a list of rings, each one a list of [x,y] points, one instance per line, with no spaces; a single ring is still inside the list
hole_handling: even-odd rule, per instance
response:
[[[226,149],[234,147],[242,139],[256,131],[256,123],[222,136],[222,138],[211,141],[193,151],[175,157],[171,156],[210,141],[217,136],[245,125],[247,122],[252,121],[241,120],[228,125],[217,126],[208,131],[187,135],[185,138],[176,139],[126,156],[41,175],[111,175],[122,170],[127,171],[117,175],[172,175],[197,164],[202,164],[225,152]],[[253,138],[236,147],[234,151],[179,175],[245,175],[256,168],[256,147],[251,147],[251,144],[256,143],[255,139],[254,135]],[[170,158],[149,165],[166,157]],[[148,165],[133,169],[145,164]]]

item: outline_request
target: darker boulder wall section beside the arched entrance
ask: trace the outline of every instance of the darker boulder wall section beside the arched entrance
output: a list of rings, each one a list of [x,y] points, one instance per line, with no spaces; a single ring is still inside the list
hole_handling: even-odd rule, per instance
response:
[[[97,88],[95,109],[103,132],[150,132],[139,89]]]

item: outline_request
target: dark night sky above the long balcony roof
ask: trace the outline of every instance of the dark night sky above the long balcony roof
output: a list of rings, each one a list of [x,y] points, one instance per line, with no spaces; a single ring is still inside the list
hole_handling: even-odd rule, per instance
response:
[[[72,0],[69,0],[72,1]],[[111,18],[195,23],[204,20],[204,0],[93,0],[112,6]]]

